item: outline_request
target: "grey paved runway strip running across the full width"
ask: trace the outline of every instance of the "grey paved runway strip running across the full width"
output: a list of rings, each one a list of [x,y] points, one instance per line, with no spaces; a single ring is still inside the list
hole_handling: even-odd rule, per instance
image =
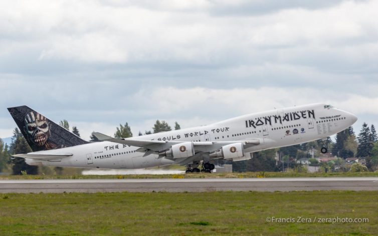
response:
[[[0,180],[0,193],[378,190],[378,177]]]

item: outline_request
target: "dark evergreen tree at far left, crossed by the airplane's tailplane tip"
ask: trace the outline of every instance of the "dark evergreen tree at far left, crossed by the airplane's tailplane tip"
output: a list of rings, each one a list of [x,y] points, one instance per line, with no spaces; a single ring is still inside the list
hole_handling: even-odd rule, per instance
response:
[[[13,154],[23,154],[28,152],[32,152],[28,142],[24,137],[18,137],[15,141]],[[28,165],[24,158],[15,158],[13,162],[13,174],[22,174],[21,171],[26,171],[27,174],[38,174],[38,166]]]

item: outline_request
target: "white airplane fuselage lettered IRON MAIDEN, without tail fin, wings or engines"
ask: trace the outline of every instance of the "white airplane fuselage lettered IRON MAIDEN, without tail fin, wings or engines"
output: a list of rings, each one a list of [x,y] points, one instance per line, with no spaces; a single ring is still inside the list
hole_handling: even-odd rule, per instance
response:
[[[259,139],[259,145],[244,150],[248,153],[323,139],[348,128],[356,119],[349,112],[319,103],[253,113],[211,125],[138,136],[134,139],[193,142]],[[71,157],[55,161],[26,158],[26,162],[32,165],[110,169],[148,168],[178,163],[161,158],[157,153],[144,156],[143,152],[136,151],[138,149],[139,147],[107,141],[93,142],[41,151],[49,154],[72,153]]]

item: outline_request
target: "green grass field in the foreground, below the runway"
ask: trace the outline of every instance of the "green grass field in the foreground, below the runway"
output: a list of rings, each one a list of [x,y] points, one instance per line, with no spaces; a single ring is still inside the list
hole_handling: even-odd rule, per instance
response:
[[[267,217],[369,218],[268,223]],[[378,191],[0,194],[2,235],[373,235]]]

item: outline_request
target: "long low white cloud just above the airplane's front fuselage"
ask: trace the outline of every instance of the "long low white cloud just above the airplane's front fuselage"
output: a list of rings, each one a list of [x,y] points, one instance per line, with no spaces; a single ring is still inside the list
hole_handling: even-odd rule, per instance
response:
[[[262,87],[208,89],[158,88],[154,91],[140,90],[128,100],[135,101],[148,114],[172,116],[199,113],[207,117],[221,115],[231,118],[269,109],[326,102],[340,109],[355,113],[378,114],[378,97],[344,94],[330,89],[318,88],[272,88]],[[152,104],[152,106],[151,106]],[[148,107],[148,109],[146,109]],[[227,112],[225,114],[225,112]]]

